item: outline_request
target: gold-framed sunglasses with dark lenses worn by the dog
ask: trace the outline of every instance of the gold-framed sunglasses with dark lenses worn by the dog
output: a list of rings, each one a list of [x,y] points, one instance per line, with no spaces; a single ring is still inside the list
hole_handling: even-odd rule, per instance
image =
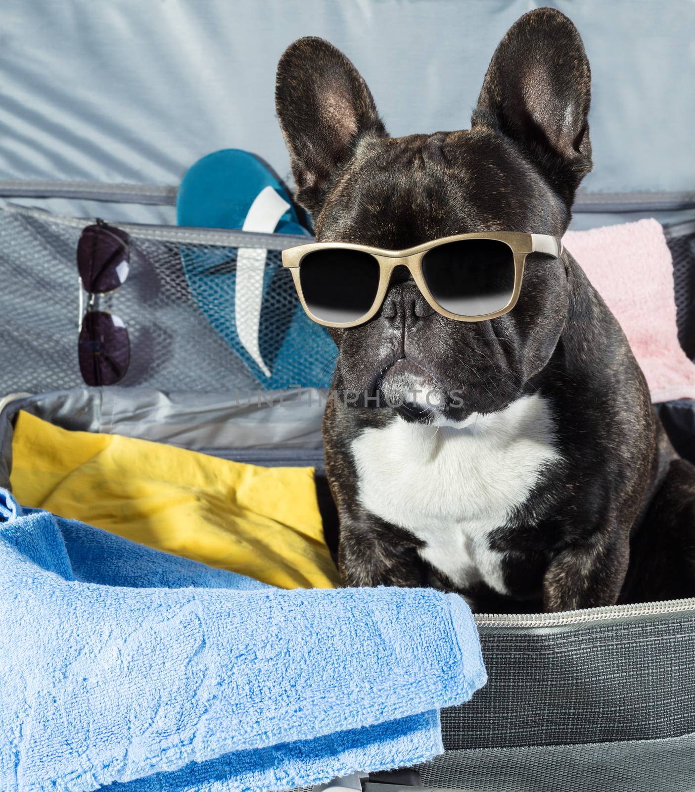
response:
[[[355,327],[382,307],[393,269],[407,267],[427,303],[459,322],[484,322],[515,307],[530,253],[557,258],[560,238],[490,231],[457,234],[406,250],[312,242],[283,250],[299,300],[326,327]]]

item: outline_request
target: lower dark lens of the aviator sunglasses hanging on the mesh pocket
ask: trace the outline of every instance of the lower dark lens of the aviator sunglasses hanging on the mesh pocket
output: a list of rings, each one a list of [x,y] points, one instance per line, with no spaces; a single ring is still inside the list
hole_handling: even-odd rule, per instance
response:
[[[87,385],[114,385],[123,379],[131,360],[131,343],[120,318],[101,310],[88,311],[80,330],[78,357]]]

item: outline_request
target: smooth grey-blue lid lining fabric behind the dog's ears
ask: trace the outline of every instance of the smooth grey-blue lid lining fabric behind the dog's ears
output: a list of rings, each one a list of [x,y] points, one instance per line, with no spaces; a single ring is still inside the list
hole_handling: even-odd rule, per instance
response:
[[[591,60],[585,188],[695,188],[692,0],[2,0],[0,178],[177,184],[223,147],[286,176],[275,65],[305,35],[353,59],[393,135],[465,128],[496,44],[537,5],[572,17]]]

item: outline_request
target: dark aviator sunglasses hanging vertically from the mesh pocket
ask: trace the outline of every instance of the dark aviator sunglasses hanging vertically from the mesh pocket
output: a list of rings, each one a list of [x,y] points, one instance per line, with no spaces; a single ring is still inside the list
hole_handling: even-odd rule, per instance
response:
[[[103,220],[82,230],[78,242],[80,324],[78,360],[82,379],[90,386],[114,385],[125,376],[131,343],[123,320],[95,307],[97,295],[116,291],[130,268],[130,238]],[[86,310],[82,290],[89,299]]]

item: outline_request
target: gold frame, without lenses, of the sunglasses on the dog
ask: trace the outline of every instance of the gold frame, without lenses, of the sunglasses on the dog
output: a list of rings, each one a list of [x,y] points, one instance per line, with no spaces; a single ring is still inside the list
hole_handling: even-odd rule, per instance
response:
[[[492,311],[490,314],[476,314],[474,316],[452,314],[449,310],[439,305],[432,296],[423,275],[422,262],[427,251],[441,245],[447,245],[450,242],[461,242],[466,239],[492,239],[496,242],[503,242],[503,244],[511,249],[512,256],[514,257],[514,289],[511,293],[511,298],[507,305],[499,310]],[[363,316],[352,322],[326,322],[324,319],[318,318],[311,312],[304,299],[302,282],[299,275],[302,267],[302,260],[306,255],[316,250],[328,249],[359,250],[362,253],[369,253],[376,259],[379,265],[379,283],[377,293],[374,296],[374,303],[366,314],[363,314]],[[404,250],[385,250],[366,245],[356,245],[351,242],[311,242],[308,245],[298,245],[296,247],[284,249],[283,266],[287,267],[292,273],[294,287],[297,289],[299,301],[302,303],[302,308],[306,311],[306,314],[313,322],[317,322],[317,324],[325,327],[356,327],[358,325],[363,325],[365,322],[369,322],[369,320],[381,309],[386,292],[389,290],[391,274],[393,269],[397,266],[408,268],[408,271],[412,275],[412,279],[420,289],[424,299],[427,300],[427,303],[429,303],[437,313],[458,322],[484,322],[488,319],[495,319],[498,316],[503,316],[503,314],[507,314],[515,307],[518,295],[521,292],[526,256],[530,255],[530,253],[545,253],[547,256],[559,258],[562,254],[562,250],[563,247],[560,238],[550,236],[549,234],[525,234],[518,231],[484,231],[477,234],[456,234],[451,237],[443,237]]]

